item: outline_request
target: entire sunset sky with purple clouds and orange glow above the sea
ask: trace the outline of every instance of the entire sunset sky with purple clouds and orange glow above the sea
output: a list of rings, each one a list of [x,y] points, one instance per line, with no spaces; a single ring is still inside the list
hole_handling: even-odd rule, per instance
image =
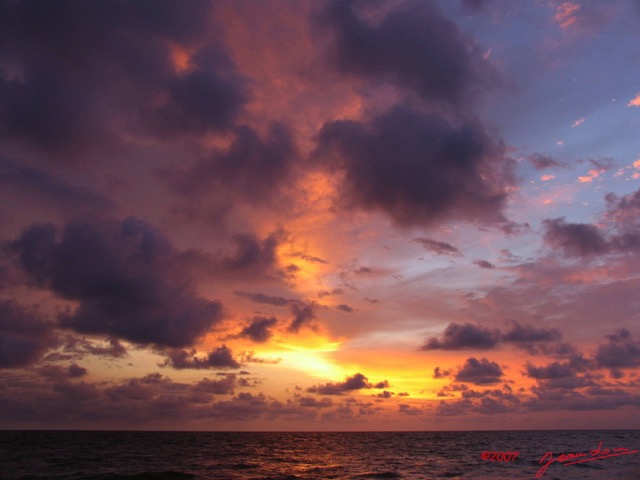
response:
[[[0,428],[640,428],[639,32],[0,3]]]

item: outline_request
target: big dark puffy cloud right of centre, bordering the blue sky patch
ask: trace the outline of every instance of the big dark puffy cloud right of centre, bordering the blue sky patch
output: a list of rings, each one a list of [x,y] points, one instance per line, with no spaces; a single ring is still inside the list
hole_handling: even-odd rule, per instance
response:
[[[316,157],[344,173],[347,206],[385,212],[398,224],[506,221],[502,209],[512,162],[501,142],[475,121],[452,123],[398,105],[368,124],[326,123]]]

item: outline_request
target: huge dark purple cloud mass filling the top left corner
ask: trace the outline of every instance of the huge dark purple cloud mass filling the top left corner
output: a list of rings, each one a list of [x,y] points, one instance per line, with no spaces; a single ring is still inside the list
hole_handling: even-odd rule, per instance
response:
[[[229,128],[248,95],[216,39],[211,7],[3,3],[1,59],[13,75],[0,80],[0,139],[65,160],[110,147],[125,132],[166,137]],[[178,50],[192,52],[190,68],[177,68]]]

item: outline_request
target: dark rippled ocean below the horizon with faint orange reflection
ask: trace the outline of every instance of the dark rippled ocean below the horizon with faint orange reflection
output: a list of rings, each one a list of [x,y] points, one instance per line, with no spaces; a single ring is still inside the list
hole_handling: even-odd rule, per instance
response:
[[[637,450],[640,430],[0,431],[0,478],[638,480]]]

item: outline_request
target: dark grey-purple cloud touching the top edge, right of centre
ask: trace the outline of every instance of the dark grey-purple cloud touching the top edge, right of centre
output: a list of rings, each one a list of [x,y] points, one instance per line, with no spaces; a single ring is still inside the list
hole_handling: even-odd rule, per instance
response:
[[[435,2],[407,2],[376,23],[356,13],[363,6],[336,0],[324,11],[338,71],[390,80],[426,99],[450,104],[494,81],[480,49]]]

